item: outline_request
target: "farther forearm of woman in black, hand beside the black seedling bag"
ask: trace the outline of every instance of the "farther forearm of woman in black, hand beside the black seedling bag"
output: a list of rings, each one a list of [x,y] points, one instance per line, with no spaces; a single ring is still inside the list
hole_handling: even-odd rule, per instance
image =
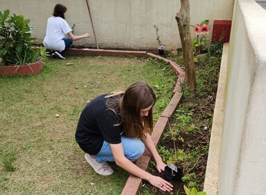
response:
[[[145,147],[147,148],[147,150],[149,150],[149,152],[153,156],[153,159],[156,162],[156,167],[157,167],[157,170],[159,171],[159,173],[161,171],[165,171],[165,166],[167,166],[167,164],[165,164],[163,162],[162,158],[158,154],[156,147],[154,146],[154,143],[151,139],[151,136],[149,134],[146,134],[146,139],[142,139],[142,141],[143,141]]]

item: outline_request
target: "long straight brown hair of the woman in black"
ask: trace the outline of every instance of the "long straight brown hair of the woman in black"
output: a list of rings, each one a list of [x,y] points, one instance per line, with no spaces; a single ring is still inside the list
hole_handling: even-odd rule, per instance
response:
[[[153,131],[152,107],[156,102],[156,95],[151,87],[142,81],[129,86],[121,102],[121,118],[124,134],[128,137],[146,138],[146,133]],[[151,107],[148,116],[140,116],[140,110]]]

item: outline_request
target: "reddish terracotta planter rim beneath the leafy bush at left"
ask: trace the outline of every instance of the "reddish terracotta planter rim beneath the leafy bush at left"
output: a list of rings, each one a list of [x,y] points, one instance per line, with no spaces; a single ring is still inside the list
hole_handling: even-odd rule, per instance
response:
[[[40,60],[26,65],[0,66],[0,76],[15,77],[36,75],[43,68],[43,62]]]

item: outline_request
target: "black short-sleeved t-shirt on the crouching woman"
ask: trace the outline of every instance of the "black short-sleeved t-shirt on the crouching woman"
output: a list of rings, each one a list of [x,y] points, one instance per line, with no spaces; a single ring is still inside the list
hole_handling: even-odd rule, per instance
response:
[[[100,95],[88,102],[78,120],[76,128],[76,142],[85,144],[88,153],[96,155],[101,150],[103,140],[108,143],[121,143],[123,132],[119,113],[106,107],[104,98],[107,94]],[[113,97],[113,98],[118,98]]]

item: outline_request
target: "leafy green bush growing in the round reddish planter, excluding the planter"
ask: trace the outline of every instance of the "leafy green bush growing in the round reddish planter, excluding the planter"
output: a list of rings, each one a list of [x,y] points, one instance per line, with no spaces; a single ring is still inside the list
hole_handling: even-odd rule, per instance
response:
[[[23,15],[10,15],[9,10],[0,10],[0,58],[2,65],[23,65],[46,58],[42,47],[33,45],[31,37],[34,26]]]

